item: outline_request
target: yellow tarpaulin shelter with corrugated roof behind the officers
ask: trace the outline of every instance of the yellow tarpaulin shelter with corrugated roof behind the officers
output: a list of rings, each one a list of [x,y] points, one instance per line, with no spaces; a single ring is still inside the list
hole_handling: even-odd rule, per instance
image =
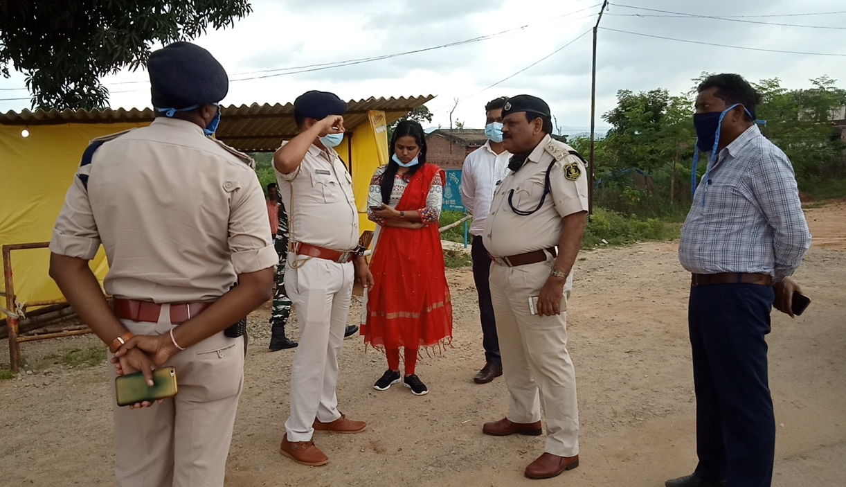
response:
[[[354,193],[363,230],[367,191],[373,171],[387,163],[387,125],[431,100],[429,97],[369,98],[350,101],[344,125],[351,131],[337,147],[353,176]],[[296,134],[294,107],[242,105],[222,108],[217,137],[244,152],[275,150]],[[49,241],[82,152],[91,139],[148,125],[146,110],[25,111],[0,114],[0,245]],[[24,136],[27,135],[27,136]],[[60,299],[47,275],[47,249],[13,252],[14,293],[17,303]],[[91,264],[99,279],[107,264],[100,254]],[[0,282],[0,289],[5,285]],[[0,300],[5,306],[5,301]]]

